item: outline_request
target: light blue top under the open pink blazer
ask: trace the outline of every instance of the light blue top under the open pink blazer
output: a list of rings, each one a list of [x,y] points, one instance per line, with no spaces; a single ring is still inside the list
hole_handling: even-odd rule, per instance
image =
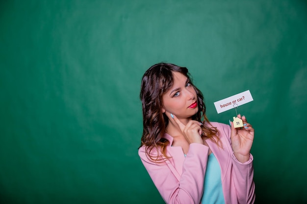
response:
[[[204,194],[201,203],[225,204],[221,180],[221,167],[213,153],[208,156]]]

